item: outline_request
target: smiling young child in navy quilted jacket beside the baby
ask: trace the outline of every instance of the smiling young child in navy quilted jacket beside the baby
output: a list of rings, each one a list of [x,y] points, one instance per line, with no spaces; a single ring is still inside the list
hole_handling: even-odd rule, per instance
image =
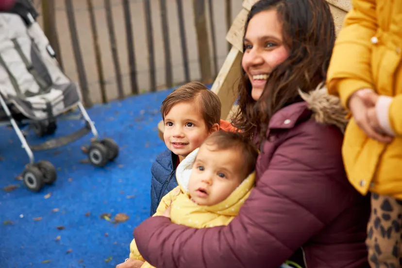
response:
[[[156,157],[151,168],[151,216],[162,198],[177,186],[179,163],[213,132],[235,131],[229,122],[220,120],[220,109],[218,96],[199,82],[180,86],[162,102],[168,150]]]

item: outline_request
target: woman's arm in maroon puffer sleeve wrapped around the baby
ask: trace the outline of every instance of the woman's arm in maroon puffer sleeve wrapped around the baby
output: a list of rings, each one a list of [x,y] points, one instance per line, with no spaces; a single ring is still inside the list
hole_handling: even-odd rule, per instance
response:
[[[350,204],[341,143],[331,127],[295,133],[228,226],[193,229],[152,217],[134,230],[139,251],[155,267],[279,267]]]

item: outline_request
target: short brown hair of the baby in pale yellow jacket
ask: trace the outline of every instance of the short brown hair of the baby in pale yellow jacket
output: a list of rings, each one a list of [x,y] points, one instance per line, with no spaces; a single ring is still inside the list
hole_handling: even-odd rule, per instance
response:
[[[207,137],[202,144],[204,143],[216,146],[213,151],[235,148],[236,151],[240,151],[240,154],[244,159],[247,172],[246,176],[254,171],[255,164],[257,163],[258,150],[251,143],[251,140],[248,137],[239,133],[220,130]]]

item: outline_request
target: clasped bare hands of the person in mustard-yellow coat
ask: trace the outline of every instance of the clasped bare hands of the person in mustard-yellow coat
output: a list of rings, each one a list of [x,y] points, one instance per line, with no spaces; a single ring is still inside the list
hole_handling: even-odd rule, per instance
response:
[[[389,143],[392,141],[392,137],[385,134],[375,111],[378,97],[377,93],[372,89],[361,89],[355,92],[349,99],[349,110],[356,124],[369,138]]]

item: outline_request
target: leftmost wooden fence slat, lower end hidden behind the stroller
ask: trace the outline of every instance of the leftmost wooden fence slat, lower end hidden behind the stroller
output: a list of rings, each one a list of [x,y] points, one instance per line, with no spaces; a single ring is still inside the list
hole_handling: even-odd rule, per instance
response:
[[[56,53],[56,59],[60,65],[60,68],[64,70],[63,60],[61,56],[59,37],[56,27],[56,8],[54,0],[47,0],[42,2],[43,13],[43,30],[46,37],[48,37],[50,46]]]

